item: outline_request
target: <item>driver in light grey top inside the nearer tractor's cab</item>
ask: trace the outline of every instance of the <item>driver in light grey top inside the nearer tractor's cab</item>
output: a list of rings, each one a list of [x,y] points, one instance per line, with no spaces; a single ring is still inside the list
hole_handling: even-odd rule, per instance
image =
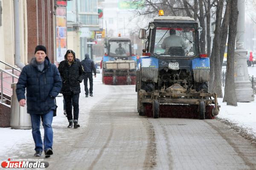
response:
[[[186,49],[188,45],[180,36],[176,35],[174,29],[171,29],[169,33],[170,36],[166,37],[161,44],[161,48],[165,49],[164,54],[184,56],[184,49]]]

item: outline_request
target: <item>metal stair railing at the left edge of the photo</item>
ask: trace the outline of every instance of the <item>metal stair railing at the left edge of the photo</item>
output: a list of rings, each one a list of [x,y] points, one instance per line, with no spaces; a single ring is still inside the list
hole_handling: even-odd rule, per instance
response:
[[[0,74],[1,74],[1,77],[0,77],[0,82],[1,82],[1,87],[0,87],[1,88],[1,100],[0,100],[0,102],[3,103],[4,100],[8,100],[9,102],[11,102],[9,99],[7,99],[4,96],[3,91],[6,91],[6,92],[8,92],[10,94],[12,94],[12,91],[10,91],[8,88],[4,87],[3,82],[6,82],[9,85],[12,85],[12,83],[15,82],[14,81],[15,79],[19,79],[19,77],[15,75],[15,70],[19,71],[19,72],[21,72],[21,70],[19,68],[15,68],[12,65],[7,64],[6,62],[3,62],[3,61],[0,61],[0,62],[5,64],[5,65],[7,65],[7,66],[9,66],[10,68],[12,68],[12,73],[10,73],[9,71],[6,71],[6,70],[0,68]],[[12,77],[12,82],[8,82],[7,80],[3,79],[3,73],[6,73],[6,74],[10,75]]]

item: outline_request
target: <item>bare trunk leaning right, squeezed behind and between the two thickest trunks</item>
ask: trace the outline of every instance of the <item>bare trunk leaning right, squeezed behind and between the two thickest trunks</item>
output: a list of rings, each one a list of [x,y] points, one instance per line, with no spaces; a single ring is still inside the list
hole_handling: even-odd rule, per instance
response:
[[[220,45],[221,65],[223,63],[224,53],[225,53],[225,48],[226,48],[226,43],[227,43],[227,32],[228,32],[229,18],[230,18],[230,0],[227,0],[226,11],[225,11],[224,18],[223,18],[223,21],[221,24],[221,45]]]

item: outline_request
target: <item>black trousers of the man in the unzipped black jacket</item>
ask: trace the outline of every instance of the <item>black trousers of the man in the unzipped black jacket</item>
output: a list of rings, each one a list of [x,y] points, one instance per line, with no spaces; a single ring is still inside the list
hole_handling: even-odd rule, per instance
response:
[[[78,122],[79,115],[79,93],[78,94],[63,94],[65,105],[66,105],[66,113],[67,119],[69,122]],[[73,115],[72,116],[72,105],[73,105]]]

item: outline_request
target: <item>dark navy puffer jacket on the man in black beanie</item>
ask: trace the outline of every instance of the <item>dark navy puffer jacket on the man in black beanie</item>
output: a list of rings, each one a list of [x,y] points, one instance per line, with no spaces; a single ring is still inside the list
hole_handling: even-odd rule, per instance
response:
[[[32,58],[21,71],[16,94],[18,101],[25,99],[26,88],[27,113],[45,114],[55,109],[54,98],[61,91],[61,85],[59,71],[48,57],[45,58],[43,71],[38,70],[36,59]]]

